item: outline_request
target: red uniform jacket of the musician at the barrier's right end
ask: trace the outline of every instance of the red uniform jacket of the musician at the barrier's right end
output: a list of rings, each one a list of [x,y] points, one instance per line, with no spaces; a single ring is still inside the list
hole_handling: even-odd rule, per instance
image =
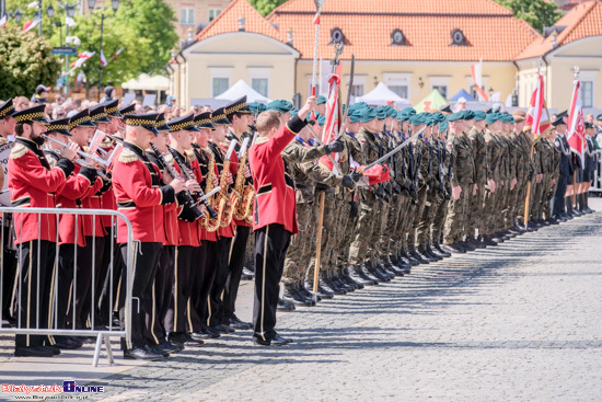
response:
[[[163,205],[175,202],[172,186],[160,186],[161,173],[148,161],[146,152],[124,141],[124,150],[115,161],[113,189],[117,210],[124,214],[134,230],[134,240],[141,242],[165,241]],[[117,242],[127,242],[127,226],[117,219]]]

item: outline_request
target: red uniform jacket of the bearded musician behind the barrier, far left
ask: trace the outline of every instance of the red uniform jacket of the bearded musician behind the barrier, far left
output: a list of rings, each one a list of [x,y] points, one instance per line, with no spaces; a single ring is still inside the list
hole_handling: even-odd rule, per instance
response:
[[[50,169],[37,143],[18,137],[8,169],[13,206],[55,208],[55,192],[60,189],[73,169],[73,163],[65,158],[59,159],[56,168]],[[15,243],[37,239],[56,241],[56,216],[49,214],[14,214]]]

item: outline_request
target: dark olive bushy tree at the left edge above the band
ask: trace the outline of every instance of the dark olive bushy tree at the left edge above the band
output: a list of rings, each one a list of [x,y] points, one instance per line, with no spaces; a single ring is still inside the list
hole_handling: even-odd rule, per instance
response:
[[[51,51],[37,33],[21,27],[0,30],[0,99],[28,97],[38,84],[54,85],[61,65]]]

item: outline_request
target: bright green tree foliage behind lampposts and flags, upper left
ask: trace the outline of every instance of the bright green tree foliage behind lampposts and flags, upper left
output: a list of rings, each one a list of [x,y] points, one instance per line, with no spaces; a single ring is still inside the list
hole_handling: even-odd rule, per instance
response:
[[[34,19],[37,8],[28,9],[33,0],[7,0],[7,10],[14,12],[19,9],[23,13],[18,24],[13,18],[9,19],[8,26],[23,27],[26,21]],[[86,2],[86,0],[84,0]],[[66,0],[79,7],[80,1]],[[53,5],[55,14],[50,19],[46,14],[48,5]],[[130,78],[146,73],[165,73],[163,67],[171,58],[171,49],[177,43],[175,33],[175,15],[173,9],[163,0],[121,0],[117,12],[111,7],[111,1],[104,3],[104,34],[103,53],[108,61],[103,68],[103,85],[118,85]],[[88,88],[97,85],[101,46],[101,20],[103,11],[97,5],[92,13],[80,14],[79,9],[73,16],[77,26],[69,28],[69,36],[77,36],[81,41],[78,53],[95,51],[84,65]],[[43,34],[51,46],[65,46],[66,26],[65,10],[58,0],[43,0]],[[31,31],[37,35],[37,27]],[[112,56],[124,47],[119,57]],[[54,56],[58,60],[58,56]],[[69,62],[76,60],[74,56]],[[65,62],[63,59],[61,62]],[[79,69],[74,74],[79,73]],[[73,76],[73,73],[72,73]],[[72,82],[72,76],[70,81]]]

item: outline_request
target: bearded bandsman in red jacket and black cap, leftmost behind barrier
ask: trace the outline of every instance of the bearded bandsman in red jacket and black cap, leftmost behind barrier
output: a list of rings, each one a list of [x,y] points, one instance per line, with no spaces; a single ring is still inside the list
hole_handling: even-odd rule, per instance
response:
[[[24,108],[15,113],[16,143],[9,159],[9,189],[14,206],[26,208],[55,208],[57,192],[74,166],[76,146],[61,150],[56,168],[50,169],[44,152],[46,119],[45,105]],[[14,215],[15,243],[19,244],[19,326],[44,329],[47,326],[45,308],[50,300],[50,273],[55,262],[56,217],[48,214]],[[43,335],[15,336],[15,356],[50,357],[60,353],[43,346]],[[55,352],[56,351],[56,352]]]

